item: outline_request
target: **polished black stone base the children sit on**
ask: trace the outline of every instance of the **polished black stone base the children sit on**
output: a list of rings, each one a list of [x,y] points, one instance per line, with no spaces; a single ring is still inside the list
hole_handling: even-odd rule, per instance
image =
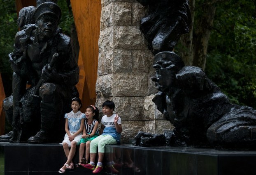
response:
[[[114,160],[119,175],[255,175],[256,151],[220,151],[189,147],[108,145],[105,162]],[[59,175],[65,163],[62,145],[0,143],[5,175]],[[77,148],[78,150],[78,148]],[[107,151],[108,152],[108,151]],[[78,162],[78,152],[74,157]],[[106,163],[104,163],[106,165]],[[75,168],[65,174],[90,175]],[[104,167],[99,174],[114,174]]]

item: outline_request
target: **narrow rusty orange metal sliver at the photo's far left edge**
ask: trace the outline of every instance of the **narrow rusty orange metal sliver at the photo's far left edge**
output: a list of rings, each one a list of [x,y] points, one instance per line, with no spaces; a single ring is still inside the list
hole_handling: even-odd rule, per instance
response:
[[[2,84],[2,77],[0,73],[0,135],[5,134],[5,113],[2,109],[2,101],[5,99],[4,86]]]

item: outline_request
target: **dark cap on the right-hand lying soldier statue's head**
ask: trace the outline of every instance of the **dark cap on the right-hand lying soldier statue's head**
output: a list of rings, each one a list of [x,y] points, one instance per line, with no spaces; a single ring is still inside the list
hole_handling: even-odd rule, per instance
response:
[[[175,65],[176,73],[185,66],[182,59],[175,52],[159,52],[155,56],[154,64],[157,64],[157,61],[171,61]]]

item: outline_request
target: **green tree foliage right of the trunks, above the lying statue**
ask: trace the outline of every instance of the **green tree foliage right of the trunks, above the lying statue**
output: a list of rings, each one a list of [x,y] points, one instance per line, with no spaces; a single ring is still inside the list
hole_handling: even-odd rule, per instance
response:
[[[256,11],[254,0],[216,4],[205,71],[238,105],[256,109]]]

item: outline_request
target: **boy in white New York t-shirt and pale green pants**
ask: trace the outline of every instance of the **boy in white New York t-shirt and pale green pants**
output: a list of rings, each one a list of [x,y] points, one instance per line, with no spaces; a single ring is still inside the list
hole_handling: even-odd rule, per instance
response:
[[[121,132],[122,132],[122,125],[121,125],[121,118],[114,114],[113,111],[115,109],[114,102],[107,100],[102,104],[102,112],[105,116],[101,119],[101,132],[103,133],[91,141],[90,144],[90,163],[89,164],[82,164],[84,168],[88,168],[93,170],[93,173],[100,173],[102,170],[102,161],[105,154],[105,145],[112,145],[120,143]],[[97,154],[98,148],[98,163],[95,168],[95,157]],[[111,166],[112,171],[117,171],[113,165]]]

